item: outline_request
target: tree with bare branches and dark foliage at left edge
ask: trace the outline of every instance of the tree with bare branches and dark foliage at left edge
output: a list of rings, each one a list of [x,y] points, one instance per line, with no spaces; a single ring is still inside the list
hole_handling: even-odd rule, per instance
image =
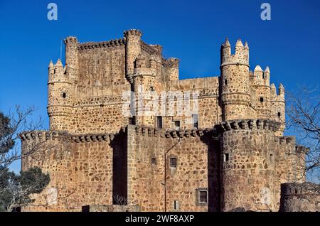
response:
[[[31,137],[31,141],[27,142],[23,151],[21,150],[21,133],[28,131],[29,134],[36,134],[38,130],[43,129],[43,122],[41,117],[38,120],[32,120],[35,107],[29,107],[23,109],[16,107],[14,111],[4,115],[0,112],[0,210],[12,210],[17,206],[33,203],[33,200],[29,198],[29,195],[33,193],[41,193],[46,187],[50,178],[46,178],[46,175],[41,172],[41,169],[30,168],[28,171],[17,175],[14,172],[9,171],[14,161],[21,160],[23,158],[44,158],[46,152],[50,149],[54,149],[54,146],[48,146],[51,144],[48,142],[50,134],[46,134],[43,131],[43,139],[34,139]],[[40,160],[40,159],[38,159]],[[28,174],[33,172],[33,177]],[[30,178],[26,179],[26,176]],[[40,178],[46,181],[40,181]],[[24,181],[23,181],[24,180]],[[28,180],[28,181],[26,181]]]

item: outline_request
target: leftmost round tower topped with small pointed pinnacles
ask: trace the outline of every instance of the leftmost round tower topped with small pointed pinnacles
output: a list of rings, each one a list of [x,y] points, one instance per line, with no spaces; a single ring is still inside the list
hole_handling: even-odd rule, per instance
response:
[[[67,131],[72,114],[73,84],[60,59],[48,67],[48,115],[51,131]]]

